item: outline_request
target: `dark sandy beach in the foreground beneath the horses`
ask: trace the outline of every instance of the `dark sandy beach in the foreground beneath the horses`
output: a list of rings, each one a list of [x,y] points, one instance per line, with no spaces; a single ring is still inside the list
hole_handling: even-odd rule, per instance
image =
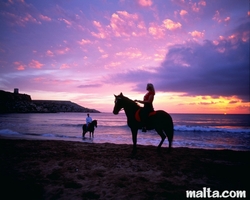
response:
[[[249,192],[250,152],[0,139],[6,199],[185,199],[186,190]]]

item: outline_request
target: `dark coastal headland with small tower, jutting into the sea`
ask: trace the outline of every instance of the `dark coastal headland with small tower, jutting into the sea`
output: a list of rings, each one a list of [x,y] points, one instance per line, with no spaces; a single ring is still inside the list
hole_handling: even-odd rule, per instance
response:
[[[0,90],[0,113],[89,112],[98,110],[82,107],[71,101],[32,100],[30,95]]]

